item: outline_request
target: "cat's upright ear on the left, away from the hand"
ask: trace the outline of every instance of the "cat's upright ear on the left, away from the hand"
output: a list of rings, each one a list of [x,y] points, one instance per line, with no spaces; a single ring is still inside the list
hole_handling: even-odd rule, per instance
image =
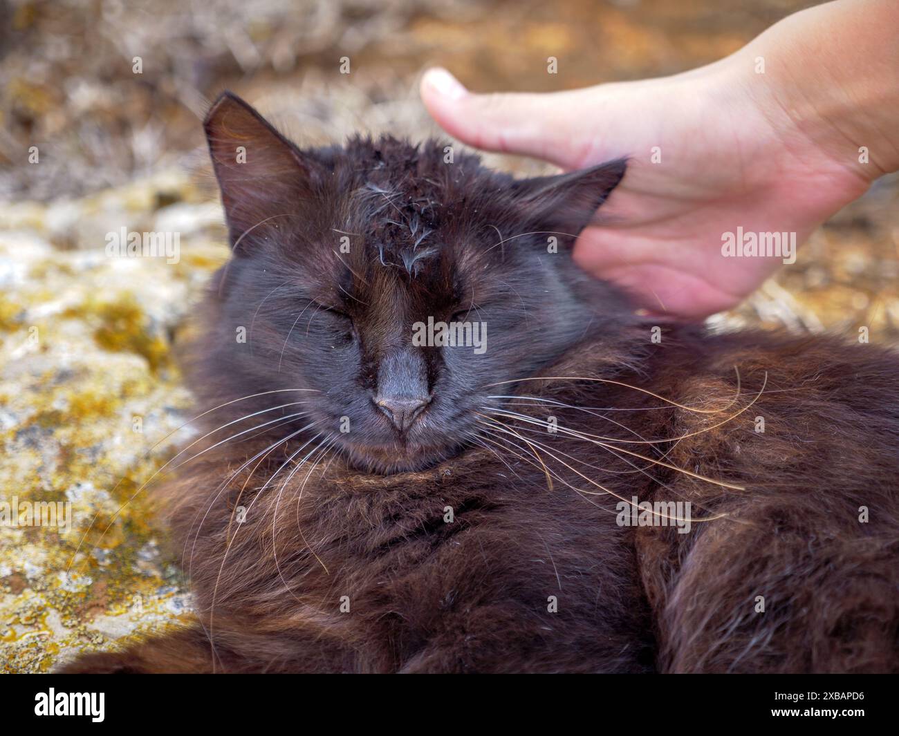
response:
[[[236,254],[296,217],[315,175],[289,140],[236,94],[225,92],[203,120],[209,156]]]

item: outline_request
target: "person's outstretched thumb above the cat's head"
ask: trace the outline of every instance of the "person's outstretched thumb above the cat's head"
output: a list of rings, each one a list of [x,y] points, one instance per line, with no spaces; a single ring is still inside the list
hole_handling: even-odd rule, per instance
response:
[[[565,169],[579,168],[590,153],[592,137],[584,129],[582,109],[589,91],[476,94],[441,67],[425,72],[421,83],[424,106],[450,136]]]

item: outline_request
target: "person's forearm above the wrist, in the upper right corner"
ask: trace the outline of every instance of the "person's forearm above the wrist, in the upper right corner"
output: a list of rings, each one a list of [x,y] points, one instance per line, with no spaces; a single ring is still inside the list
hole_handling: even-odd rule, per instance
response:
[[[835,162],[868,181],[899,170],[899,2],[837,0],[794,13],[722,63]]]

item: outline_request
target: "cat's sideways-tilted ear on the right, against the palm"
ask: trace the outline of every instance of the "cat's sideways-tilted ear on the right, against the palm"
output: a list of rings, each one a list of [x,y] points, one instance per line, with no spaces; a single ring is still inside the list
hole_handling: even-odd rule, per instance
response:
[[[627,160],[620,158],[576,172],[521,179],[512,184],[512,196],[535,228],[576,237],[591,224],[627,168]]]

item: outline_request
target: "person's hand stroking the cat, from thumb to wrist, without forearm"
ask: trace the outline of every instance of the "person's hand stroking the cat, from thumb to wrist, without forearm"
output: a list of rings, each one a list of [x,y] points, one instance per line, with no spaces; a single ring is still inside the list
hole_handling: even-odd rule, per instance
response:
[[[796,233],[801,243],[882,173],[859,166],[845,125],[785,103],[779,76],[756,74],[758,53],[560,93],[469,93],[432,69],[421,93],[441,127],[471,146],[565,170],[629,156],[601,210],[607,224],[583,232],[575,261],[652,313],[699,319],[739,304],[782,262],[723,256],[725,233]]]

